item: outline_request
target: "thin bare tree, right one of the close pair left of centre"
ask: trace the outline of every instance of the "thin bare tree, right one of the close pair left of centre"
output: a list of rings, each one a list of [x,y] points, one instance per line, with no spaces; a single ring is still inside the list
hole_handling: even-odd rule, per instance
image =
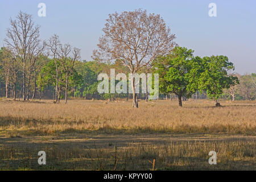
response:
[[[80,59],[80,49],[72,48],[70,44],[60,45],[59,61],[65,71],[65,104],[68,103],[68,78],[73,72],[75,61]]]

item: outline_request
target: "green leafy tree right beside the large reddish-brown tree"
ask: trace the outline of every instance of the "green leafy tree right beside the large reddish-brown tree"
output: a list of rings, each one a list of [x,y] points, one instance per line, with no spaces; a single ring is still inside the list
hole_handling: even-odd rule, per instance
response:
[[[179,106],[182,97],[189,98],[197,90],[200,57],[193,57],[193,51],[185,47],[175,47],[168,55],[155,60],[153,71],[159,74],[159,91],[178,96]]]

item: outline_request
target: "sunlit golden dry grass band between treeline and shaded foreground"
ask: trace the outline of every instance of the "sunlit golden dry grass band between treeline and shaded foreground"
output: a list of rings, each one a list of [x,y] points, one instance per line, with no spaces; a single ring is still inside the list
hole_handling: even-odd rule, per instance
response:
[[[222,101],[131,102],[52,101],[0,102],[0,130],[10,135],[58,133],[204,133],[255,135],[256,102]],[[1,134],[0,133],[0,134]]]

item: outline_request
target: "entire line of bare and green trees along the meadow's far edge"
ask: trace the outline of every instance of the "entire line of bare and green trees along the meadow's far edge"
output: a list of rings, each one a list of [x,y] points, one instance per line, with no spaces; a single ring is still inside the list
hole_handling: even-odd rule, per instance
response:
[[[40,26],[32,15],[20,11],[10,19],[0,50],[0,96],[47,98],[56,103],[62,98],[67,103],[68,96],[89,100],[131,97],[133,107],[138,107],[139,99],[148,100],[143,93],[98,93],[97,76],[110,75],[110,69],[115,69],[116,74],[126,75],[158,73],[159,98],[177,97],[179,106],[188,98],[212,98],[216,106],[220,106],[219,98],[255,100],[255,73],[234,73],[226,56],[193,56],[193,50],[177,46],[175,35],[159,15],[135,10],[109,16],[98,50],[93,51],[94,60],[81,61],[80,49],[61,43],[59,36],[40,40]]]

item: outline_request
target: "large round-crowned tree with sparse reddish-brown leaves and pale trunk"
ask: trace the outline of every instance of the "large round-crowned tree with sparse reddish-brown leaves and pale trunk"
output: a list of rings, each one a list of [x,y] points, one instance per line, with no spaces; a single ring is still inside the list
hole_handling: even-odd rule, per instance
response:
[[[98,51],[93,51],[92,57],[104,61],[119,59],[130,69],[133,107],[138,107],[135,73],[156,56],[170,51],[175,35],[171,34],[160,15],[147,14],[141,9],[110,14],[102,31],[104,35],[97,44]]]

